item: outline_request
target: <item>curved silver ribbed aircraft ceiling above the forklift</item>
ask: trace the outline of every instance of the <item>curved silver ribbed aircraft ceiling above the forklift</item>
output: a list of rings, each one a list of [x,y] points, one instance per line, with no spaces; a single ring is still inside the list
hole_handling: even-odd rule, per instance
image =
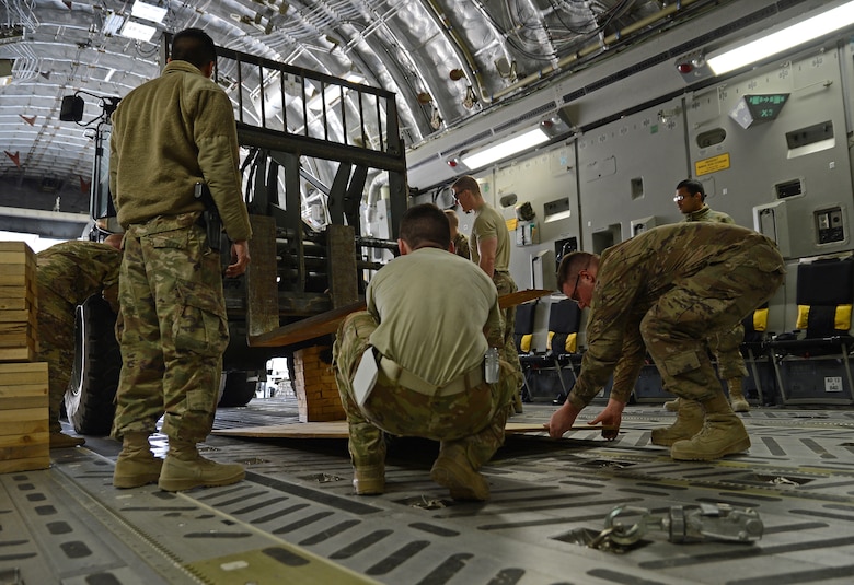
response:
[[[162,22],[154,22],[136,15],[135,3],[2,0],[3,209],[88,211],[93,131],[59,120],[61,98],[76,91],[120,97],[157,77],[164,32],[204,28],[227,48],[390,90],[397,96],[404,140],[417,145],[557,75],[589,67],[663,28],[684,25],[727,4],[712,0],[148,0],[162,15]],[[151,39],[128,38],[135,25],[153,27]],[[101,108],[97,97],[83,97],[86,122]],[[0,222],[3,229],[9,227]]]

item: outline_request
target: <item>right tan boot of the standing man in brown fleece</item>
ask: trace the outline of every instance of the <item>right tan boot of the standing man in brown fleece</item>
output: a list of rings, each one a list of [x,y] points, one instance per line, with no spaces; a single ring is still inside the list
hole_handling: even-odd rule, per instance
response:
[[[244,477],[243,466],[211,461],[198,454],[195,443],[170,437],[158,485],[168,492],[180,492],[203,485],[230,485]]]

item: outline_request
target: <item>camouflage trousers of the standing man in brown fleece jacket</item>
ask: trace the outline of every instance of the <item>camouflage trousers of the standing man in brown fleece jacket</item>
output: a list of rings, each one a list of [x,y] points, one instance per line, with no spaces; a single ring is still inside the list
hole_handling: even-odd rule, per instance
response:
[[[219,254],[197,217],[159,217],[125,235],[115,438],[153,432],[164,412],[171,438],[198,443],[214,425],[229,331]]]

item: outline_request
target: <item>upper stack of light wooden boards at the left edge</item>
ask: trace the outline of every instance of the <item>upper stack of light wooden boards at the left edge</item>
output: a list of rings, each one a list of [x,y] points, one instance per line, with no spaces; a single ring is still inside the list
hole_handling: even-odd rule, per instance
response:
[[[36,255],[24,242],[0,242],[0,362],[36,359]]]

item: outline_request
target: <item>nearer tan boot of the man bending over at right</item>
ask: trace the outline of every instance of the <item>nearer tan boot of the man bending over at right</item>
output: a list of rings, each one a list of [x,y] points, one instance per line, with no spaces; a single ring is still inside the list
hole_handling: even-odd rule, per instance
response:
[[[703,429],[688,441],[670,447],[670,457],[684,461],[708,461],[750,448],[745,424],[729,407],[724,393],[703,402],[706,420]]]

